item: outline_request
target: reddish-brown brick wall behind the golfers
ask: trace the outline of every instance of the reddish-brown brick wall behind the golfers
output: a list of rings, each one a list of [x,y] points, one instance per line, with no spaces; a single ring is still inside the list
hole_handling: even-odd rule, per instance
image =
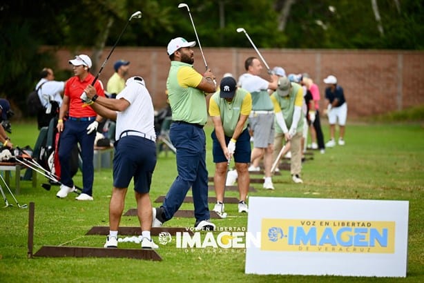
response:
[[[97,74],[110,48],[105,48],[97,61]],[[236,79],[244,72],[244,60],[256,56],[253,48],[204,48],[209,68],[220,78],[231,72]],[[320,106],[324,105],[325,84],[322,79],[336,75],[345,90],[351,118],[401,110],[424,104],[424,52],[391,50],[260,50],[270,68],[282,66],[290,72],[307,72],[318,84],[321,92]],[[76,53],[92,53],[81,50]],[[70,68],[68,59],[73,57],[68,50],[57,50],[59,68]],[[93,59],[93,58],[92,58]],[[113,74],[113,63],[117,59],[131,61],[130,76],[139,75],[153,97],[155,108],[166,103],[166,77],[169,59],[166,48],[115,48],[106,64],[100,80],[106,82]],[[94,60],[93,60],[94,61]],[[204,61],[200,50],[195,48],[195,68],[202,72]],[[262,77],[267,78],[264,68]]]

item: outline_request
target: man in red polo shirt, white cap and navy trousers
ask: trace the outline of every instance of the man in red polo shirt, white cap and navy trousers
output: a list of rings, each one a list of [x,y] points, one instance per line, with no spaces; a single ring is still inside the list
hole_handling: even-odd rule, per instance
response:
[[[90,73],[92,66],[91,59],[87,55],[75,56],[69,60],[73,65],[74,77],[66,81],[64,91],[64,101],[60,107],[57,130],[60,135],[59,162],[61,166],[61,186],[56,196],[63,198],[75,191],[74,182],[70,175],[70,153],[76,143],[81,146],[82,157],[82,182],[81,194],[76,197],[78,200],[93,200],[93,179],[94,179],[94,139],[97,126],[102,119],[95,113],[95,110],[81,101],[81,94],[86,86],[91,84],[95,77]],[[104,97],[104,89],[100,81],[96,81],[94,87],[97,95]],[[84,107],[86,106],[86,107]],[[64,121],[68,113],[69,117]]]

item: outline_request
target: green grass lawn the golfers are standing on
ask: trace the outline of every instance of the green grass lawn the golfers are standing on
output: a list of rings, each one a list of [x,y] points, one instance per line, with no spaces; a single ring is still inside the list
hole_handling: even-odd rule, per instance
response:
[[[38,131],[35,123],[13,123],[12,142],[33,146]],[[327,126],[323,126],[327,133]],[[209,175],[214,167],[211,157],[211,127],[206,127]],[[303,165],[304,184],[293,184],[287,171],[273,178],[276,190],[250,196],[319,197],[341,199],[393,199],[409,201],[408,268],[405,279],[335,276],[245,275],[243,251],[206,249],[184,251],[175,245],[160,245],[162,262],[102,258],[27,259],[28,210],[0,208],[0,282],[423,282],[424,241],[424,128],[420,124],[348,125],[346,145],[328,148],[324,155],[314,152],[314,160]],[[165,195],[176,176],[175,157],[163,153],[158,158],[151,199]],[[52,191],[21,182],[20,204],[35,202],[34,252],[43,245],[101,247],[104,236],[85,235],[92,226],[108,225],[108,202],[112,186],[109,169],[95,173],[94,202],[77,202],[74,195],[57,199]],[[81,185],[81,174],[75,177]],[[12,188],[14,189],[14,188]],[[133,193],[126,206],[135,207]],[[214,193],[211,193],[214,195]],[[238,193],[227,192],[238,197]],[[9,202],[12,197],[7,194]],[[212,208],[211,204],[210,208]],[[192,204],[182,208],[192,209]],[[227,204],[229,215],[238,215],[236,204]],[[167,226],[193,226],[194,219],[175,218]],[[242,227],[247,216],[219,219],[222,227]],[[136,217],[122,217],[122,226],[137,226]],[[155,238],[157,242],[157,238]],[[137,244],[120,245],[137,248]],[[282,263],[284,264],[284,263]]]

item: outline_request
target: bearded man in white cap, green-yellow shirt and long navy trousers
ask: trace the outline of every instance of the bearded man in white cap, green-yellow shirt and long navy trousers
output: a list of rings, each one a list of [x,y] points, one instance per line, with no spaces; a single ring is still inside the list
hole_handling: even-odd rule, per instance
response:
[[[208,171],[206,170],[206,137],[203,126],[207,121],[206,93],[215,92],[215,75],[206,70],[204,75],[193,68],[195,41],[182,37],[168,43],[171,68],[166,89],[172,110],[173,123],[169,137],[177,149],[178,175],[169,188],[160,208],[153,208],[153,227],[173,217],[191,188],[195,216],[195,230],[215,229],[209,221]]]

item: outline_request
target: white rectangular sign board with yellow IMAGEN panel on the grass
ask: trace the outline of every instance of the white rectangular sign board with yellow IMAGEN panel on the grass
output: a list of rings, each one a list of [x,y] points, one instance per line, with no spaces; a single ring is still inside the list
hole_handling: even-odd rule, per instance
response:
[[[247,232],[252,234],[260,232],[261,246],[247,246],[245,273],[406,277],[408,211],[409,202],[407,201],[249,197]],[[331,222],[332,226],[329,228],[331,231],[338,231],[338,225],[342,227],[344,227],[343,224],[353,225],[354,227],[345,228],[351,230],[349,235],[352,237],[360,235],[354,231],[368,231],[367,225],[372,227],[377,224],[380,226],[387,224],[384,230],[392,233],[387,236],[387,239],[392,241],[394,246],[391,246],[392,250],[383,247],[371,253],[369,252],[371,248],[365,252],[358,252],[359,250],[351,252],[351,249],[345,251],[341,247],[342,252],[332,252],[331,248],[328,251],[317,251],[317,246],[311,246],[315,248],[315,251],[287,251],[287,248],[293,246],[288,244],[290,233],[287,227],[280,233],[281,239],[278,239],[282,241],[280,242],[282,244],[278,246],[273,242],[268,244],[269,239],[273,241],[276,239],[269,237],[270,228],[267,225],[275,222],[278,229],[278,226],[284,223],[300,223],[299,219],[324,221],[320,222],[321,225],[316,222],[318,227],[314,228],[321,230],[327,228],[325,221],[336,221]],[[365,228],[356,229],[361,225]],[[262,227],[267,228],[267,231],[262,231]],[[373,228],[369,228],[371,229]],[[280,234],[277,233],[277,235]],[[287,237],[286,242],[284,237]],[[272,250],[273,246],[278,247],[277,250]],[[389,247],[387,245],[385,248]],[[266,251],[264,248],[269,250]],[[286,250],[278,250],[280,248]],[[298,248],[302,248],[302,245],[298,245]]]

